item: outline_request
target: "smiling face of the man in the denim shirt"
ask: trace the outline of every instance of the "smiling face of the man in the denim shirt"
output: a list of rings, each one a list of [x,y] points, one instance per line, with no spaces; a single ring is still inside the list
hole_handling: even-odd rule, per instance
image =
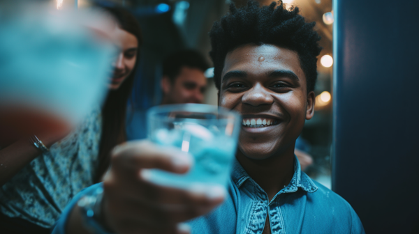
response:
[[[314,93],[297,52],[275,45],[244,45],[229,52],[221,74],[219,105],[243,116],[240,153],[266,159],[293,150]]]

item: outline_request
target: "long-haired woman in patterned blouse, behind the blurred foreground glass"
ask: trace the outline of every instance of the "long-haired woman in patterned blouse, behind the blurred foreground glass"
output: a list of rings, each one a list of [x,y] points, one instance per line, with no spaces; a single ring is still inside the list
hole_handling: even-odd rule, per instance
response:
[[[35,141],[49,150],[28,139],[0,142],[0,233],[50,233],[71,198],[101,180],[110,164],[110,150],[126,139],[126,103],[142,34],[128,10],[101,9],[115,17],[114,36],[121,45],[108,97],[70,134],[37,135]]]

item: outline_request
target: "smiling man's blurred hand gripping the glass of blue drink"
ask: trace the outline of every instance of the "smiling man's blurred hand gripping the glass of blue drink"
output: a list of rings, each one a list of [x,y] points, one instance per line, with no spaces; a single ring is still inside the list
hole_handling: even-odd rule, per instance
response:
[[[159,149],[150,141],[133,141],[112,153],[112,168],[105,176],[103,216],[116,233],[189,233],[183,221],[206,214],[226,194],[223,187],[183,190],[147,181],[148,169],[186,173],[191,155]]]

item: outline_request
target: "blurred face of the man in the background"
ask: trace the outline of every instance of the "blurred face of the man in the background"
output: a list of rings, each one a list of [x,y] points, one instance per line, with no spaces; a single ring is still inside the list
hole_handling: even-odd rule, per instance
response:
[[[173,84],[166,86],[168,88],[163,87],[163,92],[171,103],[202,103],[207,87],[207,78],[205,78],[204,72],[199,69],[183,67]]]

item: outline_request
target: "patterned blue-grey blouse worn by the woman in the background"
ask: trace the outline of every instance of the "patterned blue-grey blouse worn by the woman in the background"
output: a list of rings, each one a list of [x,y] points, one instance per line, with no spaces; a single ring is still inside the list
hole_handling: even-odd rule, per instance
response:
[[[0,188],[0,212],[50,228],[71,198],[93,185],[101,138],[98,107]]]

